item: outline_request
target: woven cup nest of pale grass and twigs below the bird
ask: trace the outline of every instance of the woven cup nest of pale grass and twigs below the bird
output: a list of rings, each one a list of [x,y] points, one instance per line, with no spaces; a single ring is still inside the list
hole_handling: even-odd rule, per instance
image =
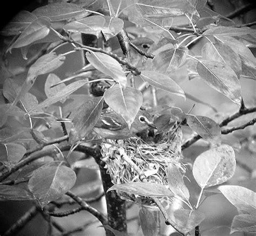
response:
[[[107,140],[106,143],[102,143],[102,160],[106,163],[105,168],[111,176],[112,183],[124,184],[139,181],[138,173],[120,155],[119,150],[122,148],[134,164],[144,172],[148,182],[168,186],[169,164],[176,165],[181,171],[185,169],[181,163],[181,139],[181,129],[177,129],[174,125],[154,141],[144,141],[136,136],[127,140]],[[117,192],[123,199],[138,202],[136,195]],[[147,197],[139,199],[144,205],[152,203]]]

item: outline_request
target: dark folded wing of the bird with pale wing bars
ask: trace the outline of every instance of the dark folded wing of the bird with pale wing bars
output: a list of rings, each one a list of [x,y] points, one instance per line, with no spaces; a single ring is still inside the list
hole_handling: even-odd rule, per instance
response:
[[[116,118],[113,119],[109,116],[102,116],[96,123],[95,127],[110,130],[119,130],[124,129],[126,127],[126,123],[122,120],[117,120]]]

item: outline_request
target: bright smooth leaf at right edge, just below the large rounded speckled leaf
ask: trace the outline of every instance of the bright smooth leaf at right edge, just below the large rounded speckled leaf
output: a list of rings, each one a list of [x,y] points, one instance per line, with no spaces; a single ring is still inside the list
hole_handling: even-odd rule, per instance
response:
[[[236,185],[224,185],[218,188],[221,193],[237,207],[240,214],[254,214],[256,216],[256,193],[250,189]]]

